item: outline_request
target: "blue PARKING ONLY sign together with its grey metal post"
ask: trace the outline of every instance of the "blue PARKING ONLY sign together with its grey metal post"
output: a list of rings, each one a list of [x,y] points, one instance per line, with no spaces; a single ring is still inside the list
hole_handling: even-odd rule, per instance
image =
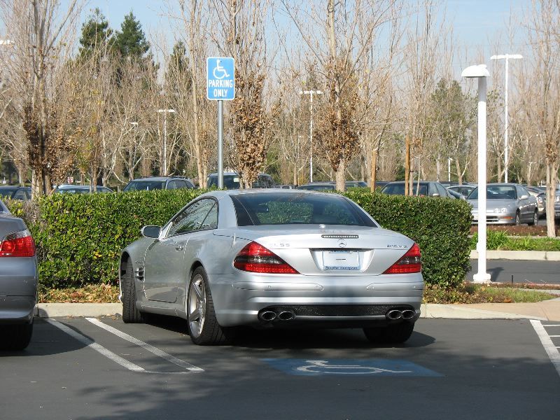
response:
[[[206,97],[218,101],[218,188],[223,188],[223,102],[235,99],[234,59],[208,57],[206,73]]]

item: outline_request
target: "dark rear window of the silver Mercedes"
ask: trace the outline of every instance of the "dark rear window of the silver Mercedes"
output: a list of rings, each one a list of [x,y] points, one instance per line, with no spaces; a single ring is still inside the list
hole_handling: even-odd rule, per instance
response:
[[[377,227],[356,204],[339,195],[260,193],[232,195],[237,225],[351,225]]]

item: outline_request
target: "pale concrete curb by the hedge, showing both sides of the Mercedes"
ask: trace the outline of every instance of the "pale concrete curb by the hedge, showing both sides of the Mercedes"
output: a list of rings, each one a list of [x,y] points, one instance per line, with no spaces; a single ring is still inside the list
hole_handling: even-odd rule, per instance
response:
[[[513,309],[513,308],[512,308]],[[54,318],[57,316],[111,316],[122,315],[123,304],[120,303],[39,303],[36,316],[39,318]],[[486,309],[468,308],[454,304],[422,304],[421,318],[451,318],[451,319],[538,319],[547,318],[530,316]]]

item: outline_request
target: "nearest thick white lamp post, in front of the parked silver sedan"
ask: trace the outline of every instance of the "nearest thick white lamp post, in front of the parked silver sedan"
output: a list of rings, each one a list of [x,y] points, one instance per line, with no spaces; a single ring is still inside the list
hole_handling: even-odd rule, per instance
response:
[[[486,273],[486,78],[490,73],[486,65],[470,66],[461,77],[478,79],[478,272],[472,277],[475,283],[487,283]]]

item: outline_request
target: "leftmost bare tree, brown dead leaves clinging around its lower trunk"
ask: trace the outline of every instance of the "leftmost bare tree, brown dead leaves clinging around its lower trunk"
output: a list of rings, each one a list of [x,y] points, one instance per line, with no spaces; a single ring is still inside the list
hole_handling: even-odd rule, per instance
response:
[[[71,0],[59,15],[58,0],[1,0],[0,16],[8,36],[17,40],[5,65],[13,74],[15,93],[27,137],[34,195],[48,193],[56,176],[64,145],[64,121],[57,121],[52,108],[53,76],[64,66],[71,48],[71,35],[82,3]],[[61,139],[62,137],[62,139]]]

